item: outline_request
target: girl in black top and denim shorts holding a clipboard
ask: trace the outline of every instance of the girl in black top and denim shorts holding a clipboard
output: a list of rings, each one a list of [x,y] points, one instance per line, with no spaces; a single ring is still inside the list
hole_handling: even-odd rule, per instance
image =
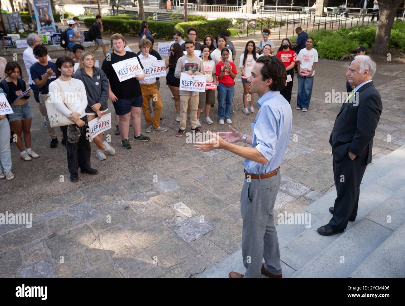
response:
[[[29,161],[32,158],[38,158],[39,155],[31,150],[31,121],[32,110],[28,103],[31,92],[27,92],[20,99],[17,99],[22,92],[27,90],[25,82],[19,78],[21,76],[21,68],[17,62],[9,62],[6,64],[5,73],[7,77],[0,83],[0,87],[7,95],[7,101],[13,109],[14,113],[9,114],[10,128],[17,135],[15,145],[20,151],[20,157],[23,160]],[[26,149],[24,150],[23,140],[21,135],[24,134],[24,142]]]

